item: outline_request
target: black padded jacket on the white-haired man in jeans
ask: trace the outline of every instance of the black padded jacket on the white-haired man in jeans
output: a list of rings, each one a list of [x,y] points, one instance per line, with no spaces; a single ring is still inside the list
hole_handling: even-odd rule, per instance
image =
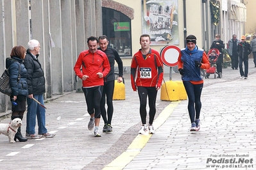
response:
[[[24,59],[24,65],[28,72],[28,94],[41,95],[46,93],[46,79],[44,78],[44,71],[42,66],[36,58],[31,54],[30,50],[27,50],[26,58]]]

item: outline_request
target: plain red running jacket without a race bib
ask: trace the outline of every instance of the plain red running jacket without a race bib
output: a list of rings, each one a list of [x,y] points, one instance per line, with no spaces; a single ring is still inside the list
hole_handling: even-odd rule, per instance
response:
[[[82,66],[82,72],[80,68]],[[88,75],[85,81],[83,81],[83,88],[91,88],[94,86],[103,86],[104,79],[99,78],[97,75],[98,72],[103,73],[103,77],[105,77],[110,71],[110,64],[108,61],[108,57],[105,52],[101,50],[96,50],[95,53],[91,53],[89,50],[82,51],[78,59],[76,61],[76,65],[74,65],[74,72],[76,75],[83,77],[83,75]]]

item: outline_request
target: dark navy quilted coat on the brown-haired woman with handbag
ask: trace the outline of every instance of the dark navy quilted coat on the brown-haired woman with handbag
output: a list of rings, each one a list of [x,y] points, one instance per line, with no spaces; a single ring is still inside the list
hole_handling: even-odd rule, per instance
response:
[[[28,97],[27,70],[22,63],[23,60],[12,56],[11,58],[6,58],[5,62],[6,68],[9,68],[12,96],[24,95]]]

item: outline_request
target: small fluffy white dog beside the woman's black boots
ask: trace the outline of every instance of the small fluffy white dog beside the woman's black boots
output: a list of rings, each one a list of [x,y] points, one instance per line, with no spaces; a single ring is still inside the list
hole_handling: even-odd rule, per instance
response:
[[[15,118],[9,124],[0,123],[0,134],[7,135],[10,143],[15,143],[14,136],[17,133],[19,127],[21,127],[22,121],[20,118]]]

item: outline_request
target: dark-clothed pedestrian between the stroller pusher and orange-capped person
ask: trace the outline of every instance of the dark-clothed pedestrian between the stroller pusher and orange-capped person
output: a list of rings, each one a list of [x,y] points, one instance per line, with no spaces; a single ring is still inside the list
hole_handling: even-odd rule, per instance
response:
[[[237,40],[237,35],[233,35],[232,39],[228,41],[228,55],[231,58],[231,68],[234,70],[238,69],[238,54],[237,54],[237,45],[240,43]],[[256,47],[255,47],[256,48]],[[256,49],[255,49],[256,50]]]

